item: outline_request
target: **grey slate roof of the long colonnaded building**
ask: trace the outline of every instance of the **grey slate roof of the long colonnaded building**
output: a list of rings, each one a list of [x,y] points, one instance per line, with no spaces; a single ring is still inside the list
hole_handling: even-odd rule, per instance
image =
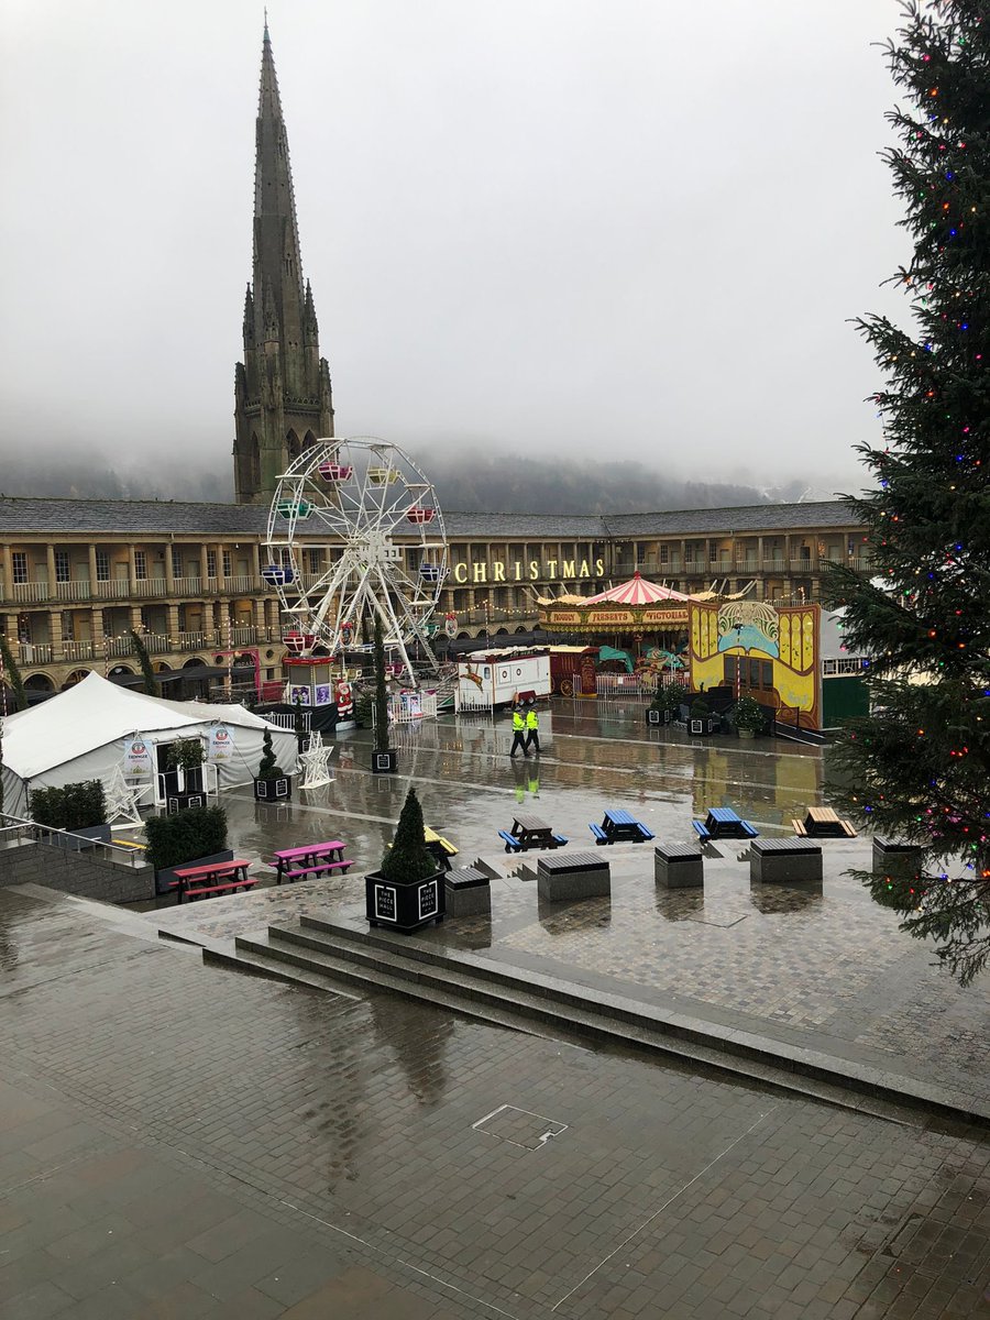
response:
[[[449,540],[628,540],[859,527],[843,500],[744,504],[660,513],[445,513]],[[20,499],[0,496],[0,536],[55,532],[135,536],[264,536],[268,507],[178,500]]]

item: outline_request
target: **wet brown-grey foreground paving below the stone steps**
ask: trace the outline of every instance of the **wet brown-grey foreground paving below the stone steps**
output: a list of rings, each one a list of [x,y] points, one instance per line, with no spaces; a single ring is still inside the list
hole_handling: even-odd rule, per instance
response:
[[[5,1320],[990,1316],[973,1133],[240,977],[143,924],[0,894]]]

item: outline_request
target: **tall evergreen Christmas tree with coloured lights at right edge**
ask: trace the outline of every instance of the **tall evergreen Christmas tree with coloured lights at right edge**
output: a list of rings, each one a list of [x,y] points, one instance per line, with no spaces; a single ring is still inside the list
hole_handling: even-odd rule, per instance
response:
[[[909,5],[890,66],[913,325],[859,322],[887,379],[854,500],[874,569],[833,569],[828,594],[873,701],[833,768],[847,810],[924,846],[867,883],[966,983],[990,957],[990,4]]]

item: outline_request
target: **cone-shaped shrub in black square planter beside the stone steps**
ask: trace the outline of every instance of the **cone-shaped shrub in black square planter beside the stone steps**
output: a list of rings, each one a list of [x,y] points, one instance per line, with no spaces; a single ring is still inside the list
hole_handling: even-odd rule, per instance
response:
[[[403,804],[392,846],[378,871],[364,876],[368,923],[395,931],[416,931],[428,921],[440,924],[446,911],[445,873],[426,851],[422,808],[411,788]]]

